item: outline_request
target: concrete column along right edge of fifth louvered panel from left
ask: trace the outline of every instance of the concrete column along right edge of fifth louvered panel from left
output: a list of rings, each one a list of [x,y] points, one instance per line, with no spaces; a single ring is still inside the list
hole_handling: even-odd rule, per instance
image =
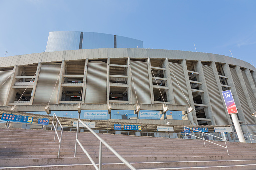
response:
[[[189,82],[187,63],[186,63],[185,59],[182,60],[182,68],[183,68],[183,72],[184,72],[184,76],[185,76],[185,81],[186,81],[186,85],[187,85],[187,90],[188,90],[188,94],[189,94],[189,102],[190,102],[191,107],[193,107],[193,109],[194,109],[192,111],[193,120],[196,123],[196,125],[198,125],[197,115],[196,115],[195,105],[194,105],[194,100],[193,100],[193,95],[192,95],[192,91],[191,91],[191,87],[190,87],[190,82]]]

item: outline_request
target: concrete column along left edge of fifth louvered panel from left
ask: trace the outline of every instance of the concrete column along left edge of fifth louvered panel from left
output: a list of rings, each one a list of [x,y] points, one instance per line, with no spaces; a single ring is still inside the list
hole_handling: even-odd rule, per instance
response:
[[[170,104],[175,104],[172,79],[171,79],[171,74],[170,74],[170,69],[169,69],[169,60],[167,58],[165,59],[165,61],[163,63],[163,68],[166,69],[165,70],[165,75],[166,75],[165,78],[167,78],[167,87],[169,88],[168,92],[166,93],[168,102],[170,102]]]

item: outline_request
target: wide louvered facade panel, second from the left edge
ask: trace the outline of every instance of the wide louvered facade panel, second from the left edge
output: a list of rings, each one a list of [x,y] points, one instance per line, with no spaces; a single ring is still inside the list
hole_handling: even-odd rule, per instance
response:
[[[56,104],[60,65],[42,65],[33,104]]]

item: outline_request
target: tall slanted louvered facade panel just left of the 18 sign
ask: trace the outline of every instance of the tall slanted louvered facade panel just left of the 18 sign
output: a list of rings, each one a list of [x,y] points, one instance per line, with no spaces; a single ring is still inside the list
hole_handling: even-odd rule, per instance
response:
[[[203,71],[207,86],[212,112],[216,125],[228,125],[225,107],[222,102],[222,96],[216,82],[214,72],[211,66],[203,65]]]

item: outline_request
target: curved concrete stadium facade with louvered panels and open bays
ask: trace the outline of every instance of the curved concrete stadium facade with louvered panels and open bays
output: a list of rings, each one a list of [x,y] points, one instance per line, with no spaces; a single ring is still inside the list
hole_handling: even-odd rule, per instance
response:
[[[230,89],[243,131],[253,132],[255,80],[251,64],[210,53],[136,48],[44,52],[0,58],[0,108],[72,118],[80,113],[83,119],[220,126],[232,125],[221,96]],[[134,114],[136,104],[141,111]],[[163,104],[169,107],[165,114]],[[189,106],[194,110],[186,114]]]

